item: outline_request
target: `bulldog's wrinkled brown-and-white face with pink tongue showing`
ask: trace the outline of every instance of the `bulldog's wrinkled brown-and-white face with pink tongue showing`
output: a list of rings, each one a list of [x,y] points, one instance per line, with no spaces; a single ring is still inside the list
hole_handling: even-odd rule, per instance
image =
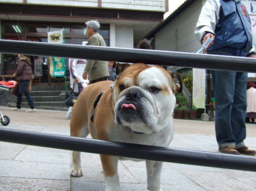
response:
[[[153,133],[164,129],[171,118],[181,80],[158,66],[136,63],[126,68],[113,91],[115,123],[134,132]]]

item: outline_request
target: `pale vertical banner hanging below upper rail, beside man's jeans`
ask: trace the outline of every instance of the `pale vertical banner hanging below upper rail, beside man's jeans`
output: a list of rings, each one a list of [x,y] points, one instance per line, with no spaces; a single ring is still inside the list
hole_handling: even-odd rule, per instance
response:
[[[193,68],[193,105],[205,108],[205,69]]]

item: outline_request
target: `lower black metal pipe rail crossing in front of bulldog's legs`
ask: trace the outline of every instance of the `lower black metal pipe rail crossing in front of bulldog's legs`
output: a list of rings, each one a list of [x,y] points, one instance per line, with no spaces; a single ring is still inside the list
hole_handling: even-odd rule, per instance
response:
[[[99,141],[0,128],[0,141],[146,160],[256,171],[255,157],[149,145]]]

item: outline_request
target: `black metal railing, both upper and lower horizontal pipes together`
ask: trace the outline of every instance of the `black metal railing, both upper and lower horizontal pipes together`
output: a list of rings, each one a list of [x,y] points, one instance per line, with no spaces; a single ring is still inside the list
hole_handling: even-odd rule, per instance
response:
[[[144,62],[155,65],[256,72],[256,59],[97,46],[0,40],[0,53]],[[254,157],[99,141],[0,128],[0,141],[147,160],[256,171]]]

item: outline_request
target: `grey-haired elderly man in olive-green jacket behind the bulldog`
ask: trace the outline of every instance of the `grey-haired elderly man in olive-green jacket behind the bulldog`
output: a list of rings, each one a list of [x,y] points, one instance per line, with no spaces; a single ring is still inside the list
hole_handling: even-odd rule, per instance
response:
[[[100,23],[94,20],[87,21],[86,33],[89,37],[87,45],[91,46],[106,46],[103,37],[99,34]],[[96,83],[109,78],[109,69],[107,61],[88,60],[85,67],[83,78],[89,80],[90,83]]]

